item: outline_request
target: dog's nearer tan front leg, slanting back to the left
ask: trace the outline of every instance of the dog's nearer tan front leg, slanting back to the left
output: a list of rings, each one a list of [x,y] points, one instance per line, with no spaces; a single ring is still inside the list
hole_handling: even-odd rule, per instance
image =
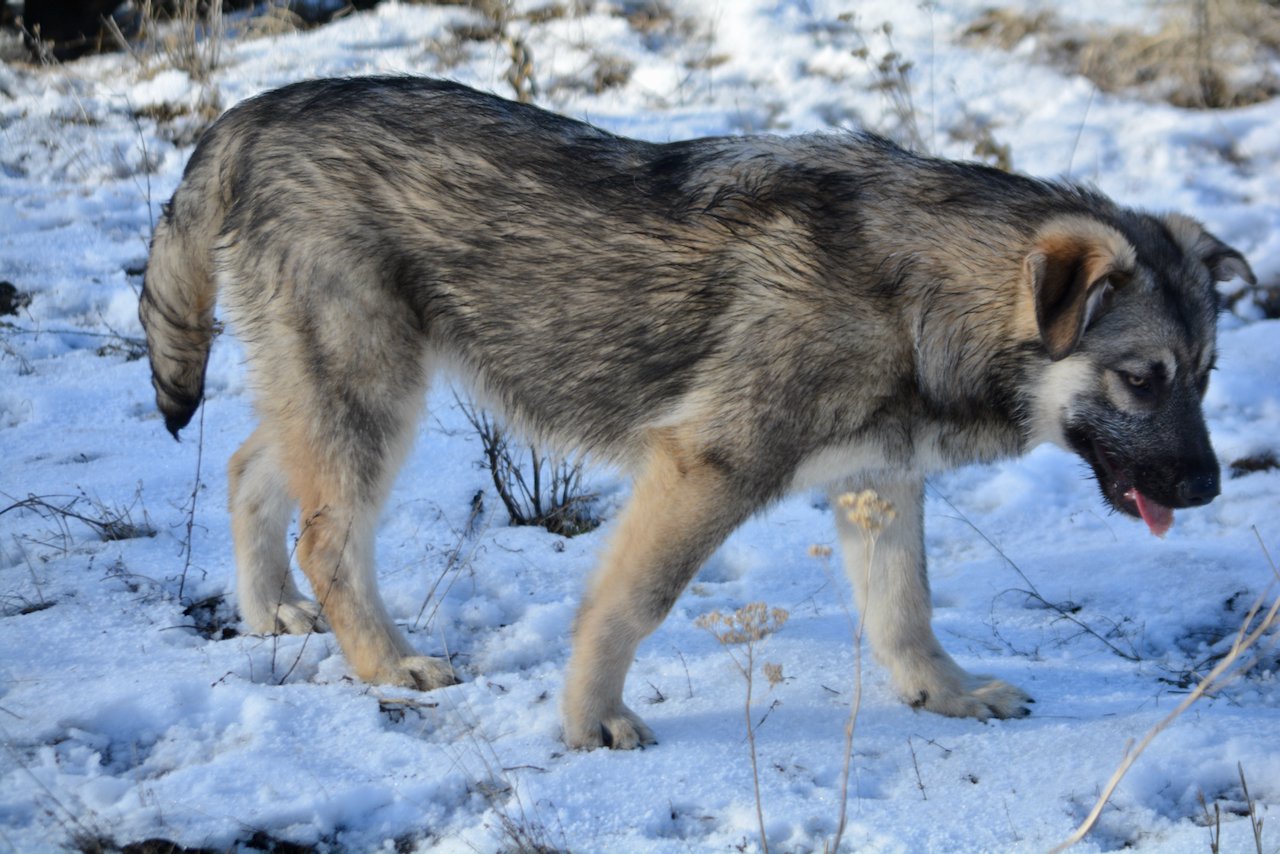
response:
[[[723,469],[671,437],[654,443],[575,621],[563,698],[568,746],[654,743],[653,731],[622,702],[636,647],[751,510]]]

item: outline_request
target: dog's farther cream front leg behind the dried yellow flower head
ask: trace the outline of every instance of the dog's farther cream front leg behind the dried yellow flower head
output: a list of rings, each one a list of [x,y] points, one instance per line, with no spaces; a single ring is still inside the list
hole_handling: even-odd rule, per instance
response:
[[[878,534],[840,506],[840,495],[868,488],[896,511]],[[902,699],[913,708],[983,721],[1028,714],[1027,694],[998,679],[964,671],[933,634],[924,563],[924,479],[851,480],[831,490],[831,503],[872,650],[888,667]]]

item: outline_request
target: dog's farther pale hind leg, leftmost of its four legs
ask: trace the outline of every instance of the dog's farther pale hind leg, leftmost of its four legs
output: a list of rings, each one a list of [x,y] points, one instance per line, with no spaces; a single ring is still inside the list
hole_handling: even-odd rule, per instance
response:
[[[289,572],[285,533],[294,502],[269,430],[255,430],[227,469],[236,592],[250,631],[323,631],[326,626],[320,606],[302,595]]]

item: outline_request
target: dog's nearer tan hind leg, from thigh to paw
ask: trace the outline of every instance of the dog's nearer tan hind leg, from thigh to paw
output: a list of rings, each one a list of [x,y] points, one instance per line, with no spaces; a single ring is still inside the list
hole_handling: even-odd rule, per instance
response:
[[[374,567],[378,513],[422,410],[426,339],[412,312],[374,287],[315,293],[246,337],[262,430],[300,504],[298,565],[360,679],[421,690],[456,682],[447,662],[419,656],[394,625]]]

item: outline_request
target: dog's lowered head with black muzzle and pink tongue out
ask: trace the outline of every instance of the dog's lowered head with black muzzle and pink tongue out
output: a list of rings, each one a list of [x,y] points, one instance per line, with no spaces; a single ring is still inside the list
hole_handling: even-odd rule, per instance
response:
[[[1174,510],[1219,494],[1201,399],[1216,357],[1216,282],[1254,282],[1193,219],[1064,216],[1024,261],[1047,356],[1037,438],[1078,453],[1102,495],[1164,535]]]

